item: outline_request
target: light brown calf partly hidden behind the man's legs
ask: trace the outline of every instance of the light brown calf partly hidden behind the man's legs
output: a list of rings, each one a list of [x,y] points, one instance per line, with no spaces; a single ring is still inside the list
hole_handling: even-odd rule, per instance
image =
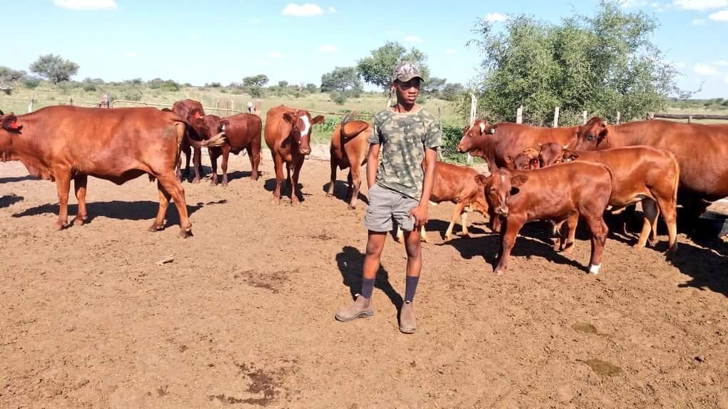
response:
[[[455,203],[448,230],[445,231],[446,241],[452,240],[453,229],[458,218],[462,227],[462,236],[468,237],[470,235],[467,231],[467,213],[470,208],[483,214],[483,216],[488,216],[488,202],[483,193],[483,188],[475,182],[476,176],[478,176],[478,171],[467,166],[458,166],[440,161],[435,165],[435,180],[432,182],[430,203]],[[396,237],[398,242],[402,243],[404,241],[404,233],[399,226],[397,226]],[[430,243],[424,226],[420,228],[420,238],[426,243]]]

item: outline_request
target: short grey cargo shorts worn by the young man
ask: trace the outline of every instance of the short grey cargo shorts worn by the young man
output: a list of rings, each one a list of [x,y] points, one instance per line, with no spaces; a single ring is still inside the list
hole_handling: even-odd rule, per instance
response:
[[[402,230],[414,230],[414,217],[410,211],[419,205],[419,201],[392,190],[374,185],[369,189],[369,206],[364,215],[364,226],[373,232],[392,231],[392,219]]]

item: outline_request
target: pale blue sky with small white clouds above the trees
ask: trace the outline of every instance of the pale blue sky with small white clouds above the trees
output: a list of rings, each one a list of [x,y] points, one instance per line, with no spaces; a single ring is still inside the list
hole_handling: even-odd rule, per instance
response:
[[[654,43],[696,97],[728,97],[728,0],[622,0],[660,22]],[[5,33],[0,65],[28,70],[41,54],[81,66],[74,79],[172,78],[229,84],[264,73],[272,83],[320,83],[385,41],[415,46],[433,76],[467,84],[480,55],[465,46],[476,21],[502,25],[527,13],[558,21],[592,13],[596,1],[0,0]],[[12,16],[12,17],[9,17]]]

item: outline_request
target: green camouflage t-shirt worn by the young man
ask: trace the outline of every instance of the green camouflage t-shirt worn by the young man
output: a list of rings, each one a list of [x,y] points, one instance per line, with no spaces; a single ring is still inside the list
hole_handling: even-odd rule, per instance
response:
[[[374,116],[370,143],[381,144],[376,184],[419,200],[422,196],[424,148],[442,143],[440,128],[424,109],[416,113],[382,110]]]

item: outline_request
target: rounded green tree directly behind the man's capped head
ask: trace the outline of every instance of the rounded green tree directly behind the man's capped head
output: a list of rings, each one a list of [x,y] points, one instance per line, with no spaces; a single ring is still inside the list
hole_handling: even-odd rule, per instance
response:
[[[357,72],[364,81],[387,91],[389,85],[392,84],[392,73],[402,60],[415,62],[427,82],[427,79],[430,78],[430,69],[426,64],[427,55],[416,48],[407,51],[402,44],[392,41],[387,41],[383,46],[372,50],[371,56],[359,60]]]

